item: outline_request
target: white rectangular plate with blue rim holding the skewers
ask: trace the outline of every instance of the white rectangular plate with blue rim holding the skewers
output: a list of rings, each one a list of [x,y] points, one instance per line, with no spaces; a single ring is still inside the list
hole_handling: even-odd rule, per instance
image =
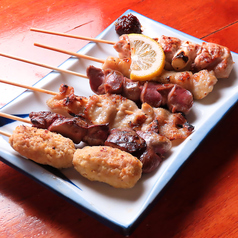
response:
[[[128,13],[138,17],[143,25],[143,34],[150,37],[159,37],[163,34],[175,36],[182,40],[201,42],[199,39],[134,11],[128,10],[124,14]],[[104,30],[98,38],[117,41],[118,35],[115,32],[114,23]],[[106,44],[89,43],[79,52],[103,59],[106,59],[109,55],[117,56],[112,46]],[[237,102],[238,55],[235,53],[232,53],[232,55],[235,65],[229,79],[219,80],[211,94],[203,100],[194,102],[192,111],[188,115],[189,123],[195,126],[194,133],[181,144],[174,146],[158,170],[151,174],[143,175],[142,179],[132,189],[115,189],[107,184],[90,182],[80,176],[73,168],[58,171],[49,169],[47,166],[40,166],[19,156],[9,146],[6,137],[0,138],[1,160],[46,185],[102,223],[128,235],[138,225],[141,218],[145,216],[149,205],[155,200],[176,171],[189,158],[190,154],[223,115]],[[86,74],[86,67],[90,64],[97,67],[101,66],[99,63],[71,57],[59,67]],[[77,95],[90,96],[93,94],[87,79],[58,72],[51,72],[37,82],[35,86],[58,91],[61,83],[73,86]],[[48,98],[50,96],[47,94],[26,91],[3,107],[1,111],[28,116],[31,111],[49,110],[45,103]],[[20,122],[8,123],[3,119],[0,120],[0,123],[2,125],[1,129],[8,133],[11,133],[17,125],[22,124]]]

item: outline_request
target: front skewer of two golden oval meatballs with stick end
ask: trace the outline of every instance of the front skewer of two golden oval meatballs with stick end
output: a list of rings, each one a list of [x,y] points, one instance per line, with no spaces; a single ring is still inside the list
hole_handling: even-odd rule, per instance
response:
[[[44,129],[17,126],[9,137],[11,147],[26,159],[57,169],[74,167],[91,181],[115,188],[134,187],[142,176],[142,162],[135,156],[109,146],[76,149],[74,143],[60,134]]]

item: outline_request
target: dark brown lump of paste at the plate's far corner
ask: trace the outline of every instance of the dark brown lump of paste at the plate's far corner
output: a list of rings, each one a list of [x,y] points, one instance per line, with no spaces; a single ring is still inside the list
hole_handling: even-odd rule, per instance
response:
[[[141,24],[138,18],[131,13],[118,18],[115,23],[115,30],[119,36],[130,33],[142,33]]]

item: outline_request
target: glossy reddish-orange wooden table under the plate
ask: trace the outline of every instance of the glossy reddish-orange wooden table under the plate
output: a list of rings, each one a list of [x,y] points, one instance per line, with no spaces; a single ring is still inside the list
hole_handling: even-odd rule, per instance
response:
[[[95,37],[127,9],[238,53],[237,0],[2,0],[0,6],[0,52],[54,66],[68,56],[56,58],[34,42],[70,51],[87,42],[34,34],[30,27]],[[2,79],[32,85],[48,72],[0,58]],[[0,106],[22,91],[1,85]],[[190,156],[131,237],[238,237],[237,119],[238,104]],[[0,181],[0,237],[123,237],[2,162]]]

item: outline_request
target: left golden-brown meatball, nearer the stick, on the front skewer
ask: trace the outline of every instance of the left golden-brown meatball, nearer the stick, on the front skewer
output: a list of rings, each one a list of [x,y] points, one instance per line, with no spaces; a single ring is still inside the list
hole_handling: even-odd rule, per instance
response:
[[[22,156],[39,164],[59,169],[72,166],[75,145],[59,134],[21,125],[16,127],[9,143]]]

